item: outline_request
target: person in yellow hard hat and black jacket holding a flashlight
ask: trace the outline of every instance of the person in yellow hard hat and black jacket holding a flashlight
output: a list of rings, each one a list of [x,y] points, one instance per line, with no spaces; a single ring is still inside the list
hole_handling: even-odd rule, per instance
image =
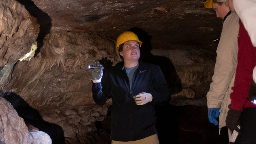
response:
[[[170,90],[159,66],[139,60],[141,45],[135,33],[125,31],[116,45],[123,61],[103,77],[102,69],[92,71],[94,101],[103,105],[112,98],[112,144],[159,144],[154,105],[170,99]]]

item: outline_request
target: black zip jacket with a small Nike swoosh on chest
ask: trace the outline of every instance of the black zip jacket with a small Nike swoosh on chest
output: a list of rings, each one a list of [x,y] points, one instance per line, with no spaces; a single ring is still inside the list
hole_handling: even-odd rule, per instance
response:
[[[135,141],[156,134],[154,105],[170,99],[170,90],[159,66],[142,61],[133,75],[132,91],[124,63],[119,62],[108,69],[101,83],[93,83],[92,92],[98,105],[112,98],[111,139],[116,141]],[[152,101],[136,105],[132,97],[141,92],[152,94]]]

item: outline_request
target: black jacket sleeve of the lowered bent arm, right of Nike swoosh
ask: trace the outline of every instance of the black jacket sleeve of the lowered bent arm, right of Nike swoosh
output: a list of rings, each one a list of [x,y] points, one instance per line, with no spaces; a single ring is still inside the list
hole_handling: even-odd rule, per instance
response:
[[[158,104],[171,98],[170,89],[159,66],[156,66],[153,74],[153,85],[154,92],[151,92],[152,104]]]

